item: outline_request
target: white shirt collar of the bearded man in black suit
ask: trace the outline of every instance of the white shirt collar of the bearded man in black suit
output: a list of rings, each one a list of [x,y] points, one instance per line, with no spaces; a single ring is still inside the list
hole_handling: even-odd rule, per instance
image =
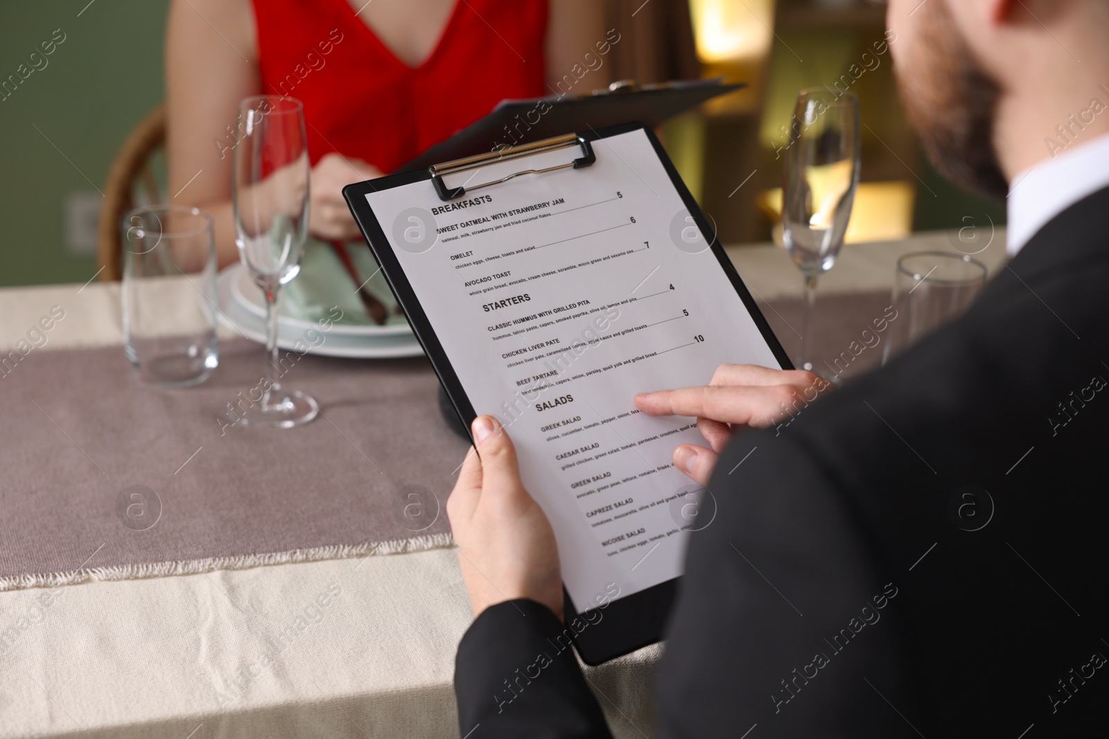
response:
[[[1009,256],[1017,256],[1060,213],[1105,187],[1109,187],[1109,134],[1072,144],[1018,175],[1008,198]]]

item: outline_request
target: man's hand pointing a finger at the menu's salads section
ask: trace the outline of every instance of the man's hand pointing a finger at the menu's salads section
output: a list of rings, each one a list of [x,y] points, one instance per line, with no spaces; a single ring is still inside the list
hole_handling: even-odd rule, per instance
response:
[[[712,449],[682,444],[674,466],[706,485],[732,435],[746,428],[765,429],[816,400],[832,383],[804,370],[774,370],[755,365],[721,365],[708,387],[662,390],[635,396],[635,407],[651,415],[695,415]]]

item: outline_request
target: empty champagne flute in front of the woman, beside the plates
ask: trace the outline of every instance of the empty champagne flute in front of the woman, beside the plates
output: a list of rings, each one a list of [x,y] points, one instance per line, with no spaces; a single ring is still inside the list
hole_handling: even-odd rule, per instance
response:
[[[238,135],[232,178],[235,244],[266,298],[266,350],[273,370],[260,384],[261,399],[238,422],[289,429],[319,413],[311,396],[282,388],[284,368],[277,357],[278,290],[301,271],[308,235],[311,163],[304,106],[292,97],[246,97],[238,104]]]

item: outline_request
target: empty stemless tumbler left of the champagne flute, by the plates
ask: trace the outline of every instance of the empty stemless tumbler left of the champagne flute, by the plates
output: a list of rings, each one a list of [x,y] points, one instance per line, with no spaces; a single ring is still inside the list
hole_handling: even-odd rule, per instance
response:
[[[218,365],[212,216],[151,205],[123,216],[124,351],[139,377],[181,388]]]

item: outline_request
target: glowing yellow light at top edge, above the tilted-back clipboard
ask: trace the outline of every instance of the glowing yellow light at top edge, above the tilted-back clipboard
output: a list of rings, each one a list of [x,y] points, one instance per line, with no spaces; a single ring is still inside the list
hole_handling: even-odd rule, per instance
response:
[[[770,52],[774,0],[691,0],[690,11],[702,62],[761,59]]]

